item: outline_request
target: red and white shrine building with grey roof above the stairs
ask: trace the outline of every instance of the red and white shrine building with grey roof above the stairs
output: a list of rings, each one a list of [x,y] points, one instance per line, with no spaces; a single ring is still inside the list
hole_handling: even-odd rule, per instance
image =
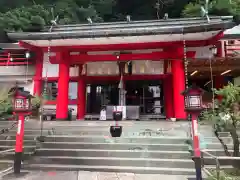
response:
[[[46,106],[56,108],[58,120],[67,119],[69,107],[82,120],[115,105],[126,106],[127,119],[137,111],[140,117],[184,120],[186,80],[207,86],[210,61],[215,87],[239,76],[238,62],[226,60],[226,40],[221,40],[235,25],[232,17],[211,17],[210,22],[184,18],[7,33],[16,44],[0,44],[5,49],[0,65],[8,68],[0,79],[8,75],[6,81],[25,84],[34,95],[45,90]],[[22,57],[26,52],[28,57]]]

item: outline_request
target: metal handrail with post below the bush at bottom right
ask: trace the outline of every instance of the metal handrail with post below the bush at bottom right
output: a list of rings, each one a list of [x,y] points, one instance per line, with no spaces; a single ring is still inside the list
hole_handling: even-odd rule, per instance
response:
[[[216,178],[217,178],[217,180],[220,179],[220,170],[221,170],[221,164],[220,164],[219,160],[240,160],[240,157],[215,156],[215,155],[213,155],[213,154],[211,154],[211,153],[209,153],[209,152],[207,152],[205,150],[201,150],[201,152],[202,152],[202,154],[206,154],[206,155],[210,156],[211,158],[215,159],[215,161],[216,161],[216,176],[217,176]],[[203,167],[204,167],[204,165],[203,165]],[[204,170],[206,170],[206,169],[204,168]]]

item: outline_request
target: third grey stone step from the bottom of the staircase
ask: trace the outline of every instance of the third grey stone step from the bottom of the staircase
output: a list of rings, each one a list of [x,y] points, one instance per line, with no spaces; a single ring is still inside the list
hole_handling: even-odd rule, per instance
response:
[[[106,150],[106,149],[46,149],[40,148],[36,156],[87,156],[87,157],[129,157],[129,158],[165,158],[190,159],[187,151],[144,151],[144,150]]]

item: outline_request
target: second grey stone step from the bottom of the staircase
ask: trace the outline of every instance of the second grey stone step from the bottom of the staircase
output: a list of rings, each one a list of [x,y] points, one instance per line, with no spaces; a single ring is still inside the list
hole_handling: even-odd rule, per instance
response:
[[[134,167],[168,167],[192,168],[191,159],[159,158],[119,158],[119,157],[76,157],[76,156],[38,156],[31,163],[86,165],[86,166],[134,166]]]

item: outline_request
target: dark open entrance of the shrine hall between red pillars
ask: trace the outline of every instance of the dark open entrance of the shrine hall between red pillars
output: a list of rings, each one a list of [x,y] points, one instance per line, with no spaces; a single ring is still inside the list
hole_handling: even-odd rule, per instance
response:
[[[159,115],[164,113],[163,85],[158,81],[125,81],[124,104],[139,106],[141,115]],[[106,106],[119,105],[119,82],[109,81],[87,85],[86,113],[98,115]]]

